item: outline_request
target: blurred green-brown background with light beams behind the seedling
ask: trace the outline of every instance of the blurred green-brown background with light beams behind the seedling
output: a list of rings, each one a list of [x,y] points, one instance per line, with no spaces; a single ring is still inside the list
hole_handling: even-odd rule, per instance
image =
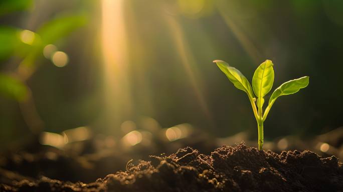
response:
[[[342,34],[341,0],[1,0],[0,150],[257,146],[246,93],[212,61],[251,80],[271,59],[272,90],[310,83],[273,105],[265,147],[343,157]]]

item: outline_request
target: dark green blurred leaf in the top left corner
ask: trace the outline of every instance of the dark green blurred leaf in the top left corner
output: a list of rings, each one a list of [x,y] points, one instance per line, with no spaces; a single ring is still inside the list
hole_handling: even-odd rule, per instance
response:
[[[31,4],[32,0],[0,0],[0,16],[13,11],[27,9]]]

